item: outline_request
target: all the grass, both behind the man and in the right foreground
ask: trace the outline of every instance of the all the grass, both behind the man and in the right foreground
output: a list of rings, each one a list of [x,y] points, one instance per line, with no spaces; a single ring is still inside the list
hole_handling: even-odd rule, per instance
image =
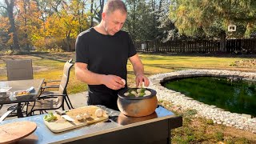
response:
[[[171,54],[139,54],[145,68],[146,76],[158,73],[172,72],[186,69],[218,69],[218,70],[242,70],[256,72],[256,66],[230,66],[230,62],[241,61],[238,56],[222,55],[221,57],[207,55],[171,55]],[[0,81],[6,80],[5,62],[7,58],[31,58],[34,66],[34,78],[60,79],[64,62],[74,59],[73,53],[61,54],[31,54],[1,56]],[[128,62],[127,84],[134,87],[134,72]],[[70,82],[67,88],[69,94],[75,94],[87,90],[85,83],[79,82],[74,75],[74,69],[70,73]],[[231,127],[216,125],[211,120],[196,117],[196,110],[177,110],[171,103],[159,101],[162,106],[182,115],[183,126],[172,131],[173,143],[256,143],[256,134],[236,130]]]

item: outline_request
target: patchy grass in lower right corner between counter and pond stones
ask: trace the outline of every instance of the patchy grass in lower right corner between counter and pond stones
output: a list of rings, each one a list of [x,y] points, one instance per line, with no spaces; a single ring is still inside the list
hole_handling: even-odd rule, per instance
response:
[[[172,130],[172,143],[253,144],[256,142],[256,134],[214,124],[212,120],[197,117],[196,110],[177,109],[177,106],[172,106],[166,101],[161,101],[159,104],[176,115],[182,115],[183,126]]]

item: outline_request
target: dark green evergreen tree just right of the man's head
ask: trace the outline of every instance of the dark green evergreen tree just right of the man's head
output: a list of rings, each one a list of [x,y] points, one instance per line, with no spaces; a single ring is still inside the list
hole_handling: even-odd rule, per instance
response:
[[[158,21],[154,11],[154,1],[126,0],[126,6],[128,15],[124,30],[129,31],[131,38],[134,41],[156,39]]]

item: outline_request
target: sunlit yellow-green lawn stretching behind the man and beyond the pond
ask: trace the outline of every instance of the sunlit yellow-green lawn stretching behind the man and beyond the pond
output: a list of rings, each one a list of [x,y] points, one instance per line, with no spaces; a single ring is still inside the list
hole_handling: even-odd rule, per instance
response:
[[[256,71],[256,67],[230,66],[230,62],[235,62],[245,58],[218,58],[206,56],[169,56],[167,54],[139,54],[145,67],[146,76],[158,73],[166,73],[174,70],[186,69],[222,69],[222,70],[246,70]],[[30,54],[2,56],[0,59],[1,70],[6,65],[3,62],[6,58],[31,58],[34,66],[34,78],[60,79],[64,62],[70,58],[75,58],[74,52],[60,54]],[[250,59],[250,58],[246,58]],[[128,86],[134,86],[133,68],[128,62]],[[6,73],[0,73],[0,80],[6,80]],[[85,83],[79,82],[74,76],[74,68],[70,73],[68,93],[74,94],[87,90]]]

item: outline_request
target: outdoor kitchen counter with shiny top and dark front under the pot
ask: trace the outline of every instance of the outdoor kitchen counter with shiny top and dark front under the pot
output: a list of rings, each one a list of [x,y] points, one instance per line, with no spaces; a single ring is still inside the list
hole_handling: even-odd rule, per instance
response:
[[[37,129],[18,143],[170,143],[170,130],[182,126],[182,117],[158,106],[154,114],[141,118],[128,118],[119,111],[101,106],[110,115],[107,122],[98,122],[73,130],[54,134],[43,122],[42,115],[16,118],[1,122],[30,121],[37,123]]]

